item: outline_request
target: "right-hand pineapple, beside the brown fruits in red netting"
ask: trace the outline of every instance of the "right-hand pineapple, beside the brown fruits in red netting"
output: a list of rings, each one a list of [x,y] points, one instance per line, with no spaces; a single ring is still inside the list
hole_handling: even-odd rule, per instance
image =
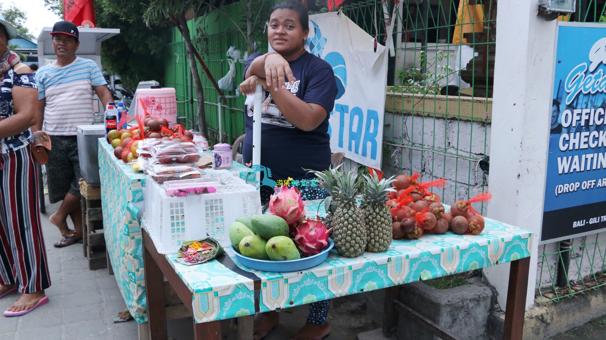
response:
[[[395,191],[391,188],[394,177],[379,180],[377,175],[364,175],[364,192],[362,209],[364,210],[364,224],[367,231],[366,250],[380,253],[387,250],[393,239],[391,227],[391,213],[385,205],[387,193]]]

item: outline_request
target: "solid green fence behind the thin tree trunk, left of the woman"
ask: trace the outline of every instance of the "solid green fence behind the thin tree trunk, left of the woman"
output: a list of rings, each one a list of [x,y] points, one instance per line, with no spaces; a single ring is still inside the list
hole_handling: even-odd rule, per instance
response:
[[[242,56],[247,51],[246,40],[239,30],[242,29],[239,24],[244,16],[243,5],[238,2],[222,8],[221,11],[214,11],[205,18],[188,22],[194,37],[193,44],[216,81],[225,76],[229,70],[226,53],[230,46],[241,50]],[[259,49],[267,48],[266,40],[258,41]],[[176,90],[179,123],[197,129],[199,102],[193,87],[185,42],[176,28],[173,28],[173,42],[168,45],[164,60],[166,70],[164,85]],[[241,79],[243,68],[244,64],[236,63],[236,82]],[[217,100],[219,94],[199,64],[198,73],[204,88],[204,105],[210,134],[208,138],[211,143],[215,143],[218,140],[219,128]],[[223,93],[225,96],[235,95],[235,91],[223,91]],[[226,143],[232,143],[244,134],[244,96],[227,99],[227,105],[224,104],[222,110],[222,130],[223,141]]]

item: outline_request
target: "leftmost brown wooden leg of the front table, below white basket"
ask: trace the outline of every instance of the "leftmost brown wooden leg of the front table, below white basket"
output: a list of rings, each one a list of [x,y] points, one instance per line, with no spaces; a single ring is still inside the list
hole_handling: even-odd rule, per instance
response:
[[[147,247],[143,247],[145,261],[145,293],[147,295],[147,315],[152,340],[166,340],[166,309],[164,304],[164,275],[153,260]],[[197,339],[197,338],[196,338]],[[210,338],[209,338],[210,339]]]

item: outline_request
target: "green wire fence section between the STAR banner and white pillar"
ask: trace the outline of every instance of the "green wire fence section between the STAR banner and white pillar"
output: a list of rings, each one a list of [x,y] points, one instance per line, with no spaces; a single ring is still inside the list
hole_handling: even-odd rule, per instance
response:
[[[396,10],[384,169],[445,177],[435,190],[445,203],[487,189],[478,162],[489,147],[496,1],[469,2],[400,2]]]

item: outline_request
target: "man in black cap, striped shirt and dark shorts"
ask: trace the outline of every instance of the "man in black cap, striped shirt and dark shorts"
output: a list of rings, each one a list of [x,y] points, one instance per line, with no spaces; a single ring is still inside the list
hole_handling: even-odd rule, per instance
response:
[[[93,123],[93,91],[101,99],[103,108],[113,98],[95,62],[76,56],[80,44],[78,27],[69,21],[59,21],[50,34],[57,60],[36,73],[39,108],[38,123],[33,131],[44,128],[52,143],[46,165],[48,200],[63,202],[49,220],[63,236],[55,247],[65,247],[82,239],[76,126]],[[73,230],[67,226],[68,216],[72,218]]]

